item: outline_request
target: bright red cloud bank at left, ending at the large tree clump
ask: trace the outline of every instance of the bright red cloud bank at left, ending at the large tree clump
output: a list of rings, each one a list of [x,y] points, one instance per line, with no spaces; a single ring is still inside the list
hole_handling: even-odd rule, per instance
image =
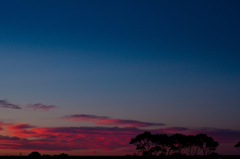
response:
[[[7,134],[0,135],[1,149],[21,150],[117,150],[129,147],[129,139],[138,129],[104,127],[32,127],[27,124],[8,126]]]

